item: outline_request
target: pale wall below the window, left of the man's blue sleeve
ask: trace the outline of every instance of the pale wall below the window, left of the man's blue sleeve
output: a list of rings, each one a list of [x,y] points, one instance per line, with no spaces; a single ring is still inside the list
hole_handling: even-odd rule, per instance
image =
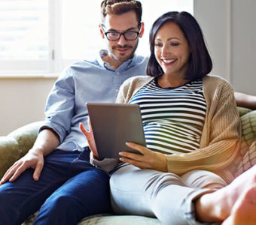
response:
[[[44,119],[44,105],[53,78],[0,79],[0,136]]]

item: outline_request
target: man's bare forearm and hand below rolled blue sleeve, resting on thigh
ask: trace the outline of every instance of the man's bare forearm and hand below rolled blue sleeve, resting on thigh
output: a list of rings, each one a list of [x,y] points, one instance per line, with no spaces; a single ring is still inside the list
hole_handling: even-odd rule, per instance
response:
[[[26,169],[35,169],[33,179],[38,181],[44,166],[44,156],[50,154],[59,145],[59,137],[50,129],[41,130],[35,144],[20,160],[17,160],[3,176],[0,184],[15,181]]]

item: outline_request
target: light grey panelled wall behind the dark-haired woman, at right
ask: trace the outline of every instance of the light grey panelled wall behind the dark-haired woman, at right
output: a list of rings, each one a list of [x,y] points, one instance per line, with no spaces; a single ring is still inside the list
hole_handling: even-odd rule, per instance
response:
[[[212,74],[251,95],[256,95],[255,11],[254,0],[194,0],[194,16],[214,62]]]

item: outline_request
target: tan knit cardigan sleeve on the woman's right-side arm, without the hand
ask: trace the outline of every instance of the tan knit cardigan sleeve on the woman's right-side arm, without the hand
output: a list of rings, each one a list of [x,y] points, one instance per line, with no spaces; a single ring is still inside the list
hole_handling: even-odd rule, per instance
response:
[[[168,155],[168,171],[178,175],[192,169],[220,171],[235,160],[239,150],[240,118],[233,89],[229,84],[218,88],[210,98],[200,148],[187,154]],[[207,91],[206,91],[207,92]]]

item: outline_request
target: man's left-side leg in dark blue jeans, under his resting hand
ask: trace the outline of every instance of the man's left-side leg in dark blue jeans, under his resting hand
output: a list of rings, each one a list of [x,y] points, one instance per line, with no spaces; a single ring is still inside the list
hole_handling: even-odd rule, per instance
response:
[[[80,152],[53,151],[45,157],[44,168],[38,181],[32,179],[33,169],[27,169],[16,181],[0,186],[1,225],[23,223],[37,211],[45,199],[68,178],[66,168]]]

